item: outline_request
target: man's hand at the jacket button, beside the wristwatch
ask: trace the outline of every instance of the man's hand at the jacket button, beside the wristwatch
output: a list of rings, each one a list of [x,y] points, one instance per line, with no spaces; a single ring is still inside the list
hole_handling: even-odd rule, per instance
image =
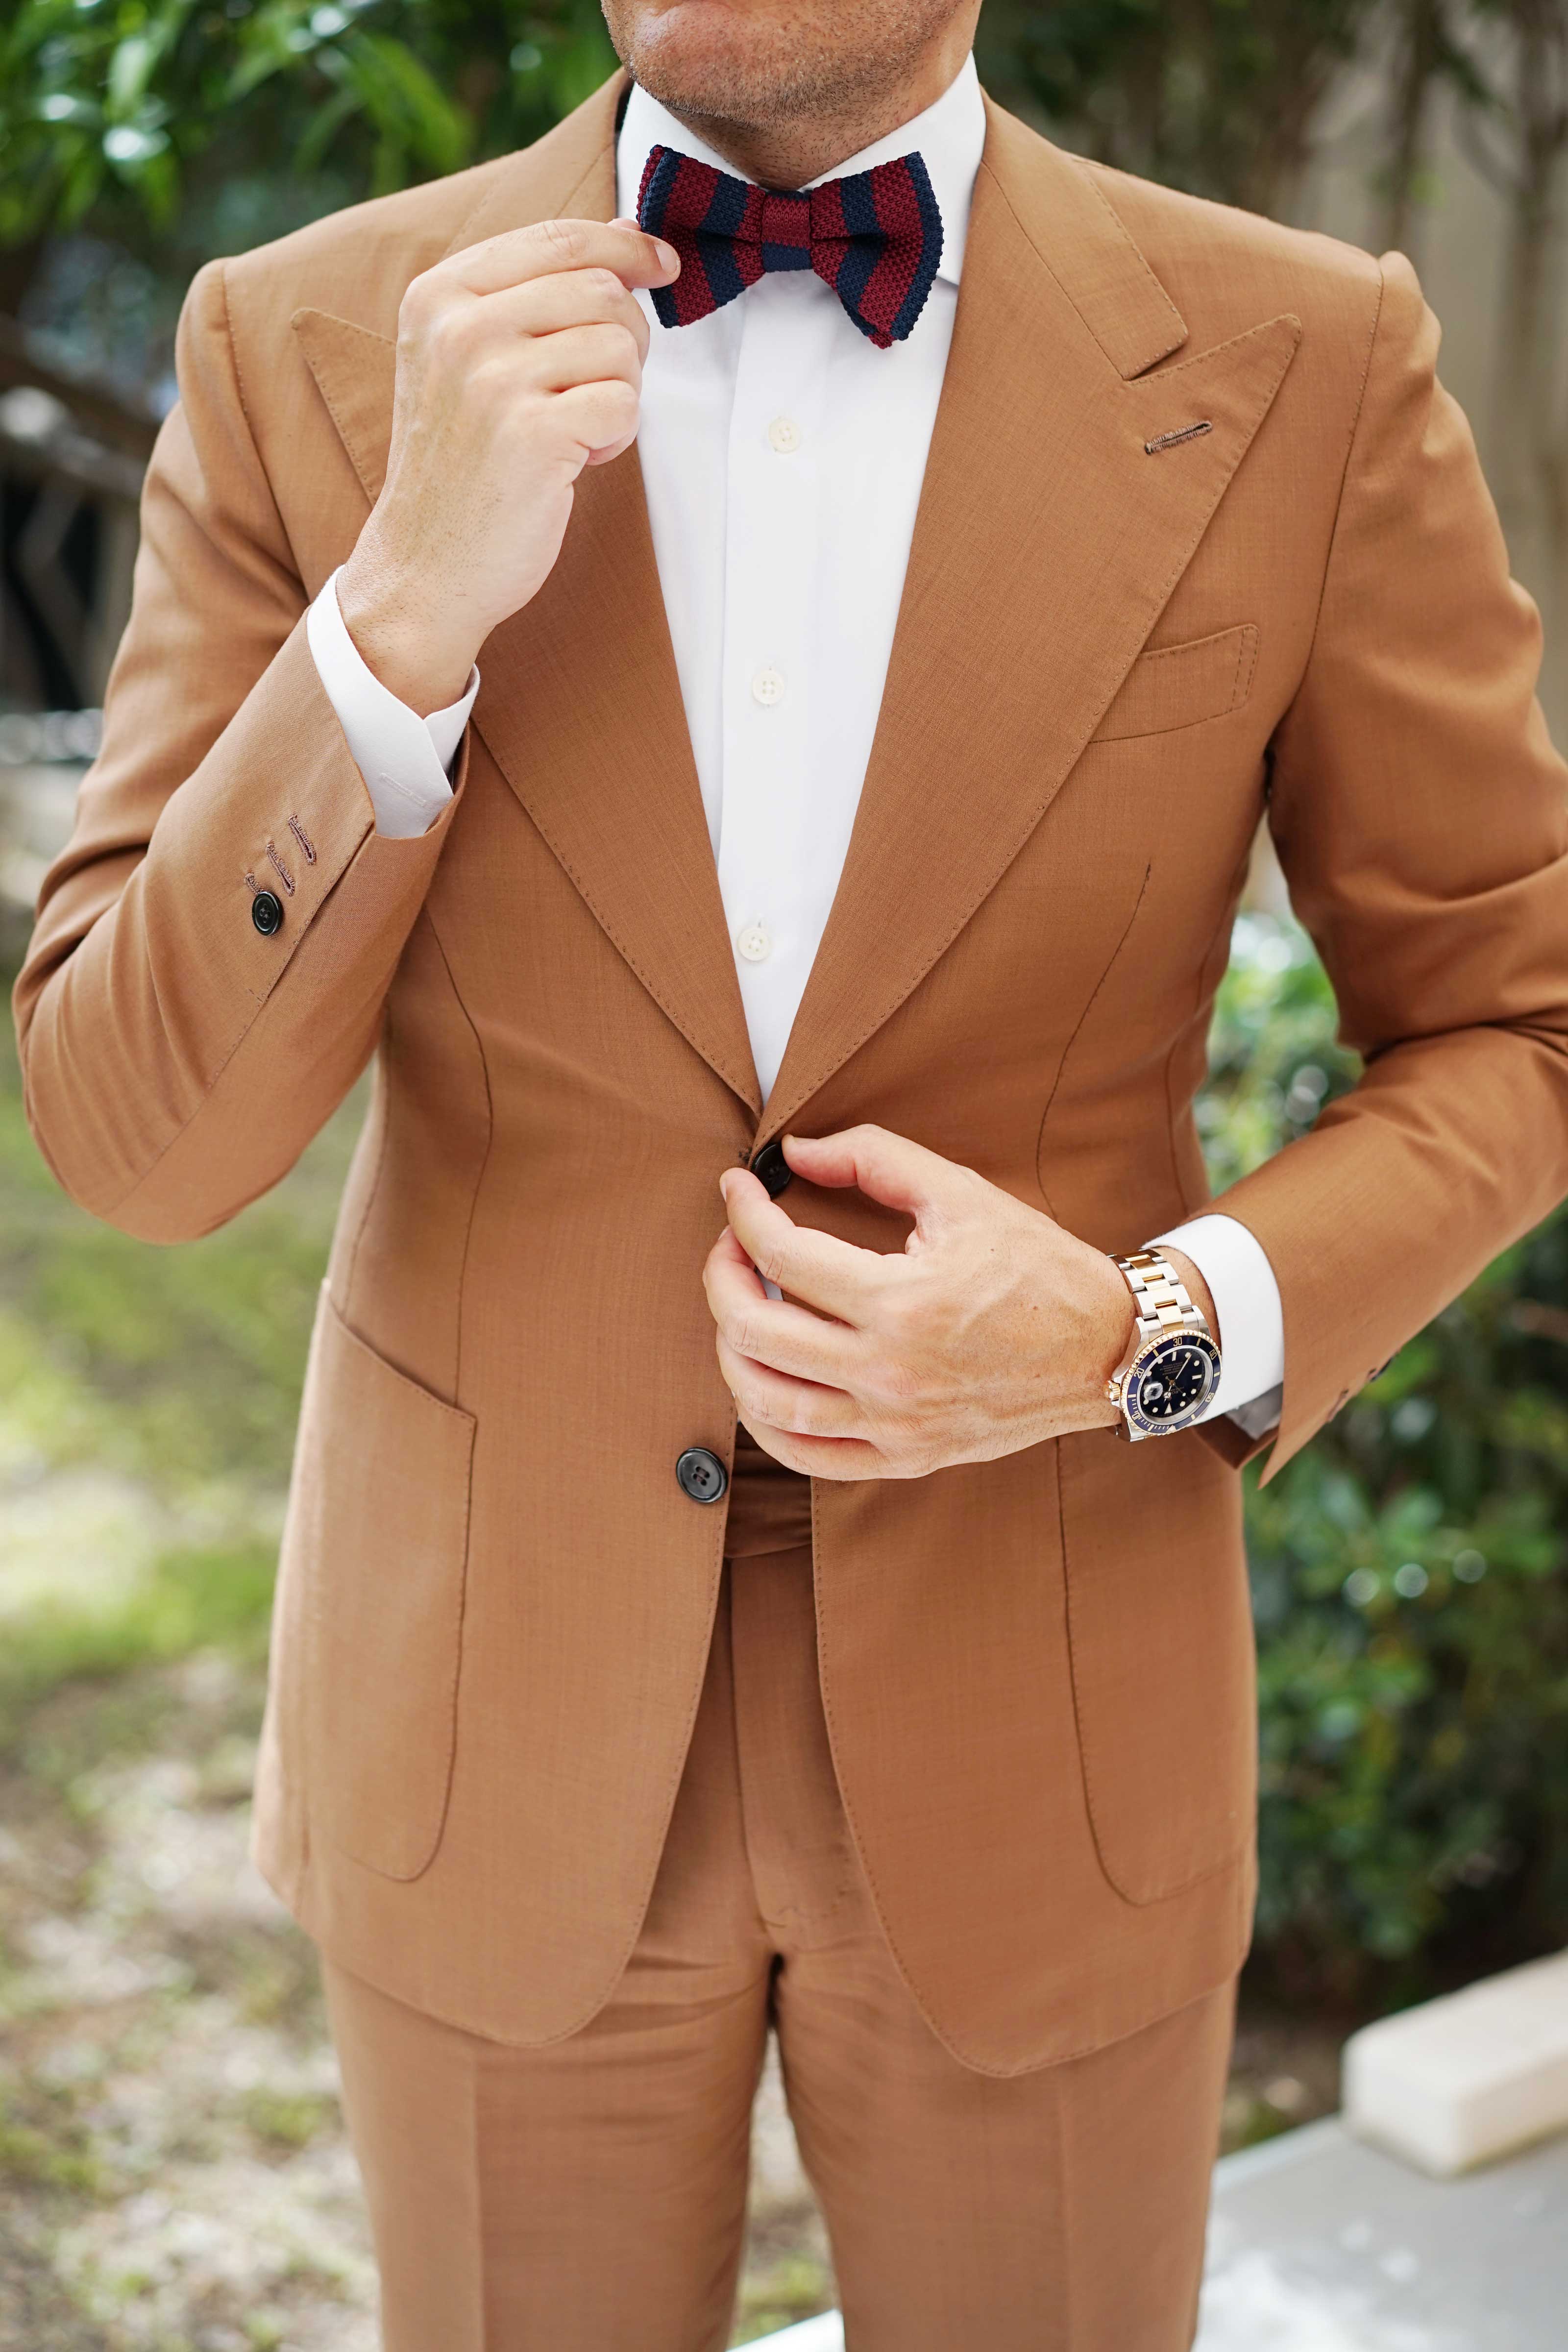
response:
[[[882,1127],[783,1148],[797,1176],[858,1185],[914,1232],[900,1256],[856,1249],[795,1225],[745,1169],[719,1178],[729,1225],[703,1287],[759,1446],[813,1477],[924,1477],[1117,1421],[1105,1383],[1133,1294],[1107,1256]]]

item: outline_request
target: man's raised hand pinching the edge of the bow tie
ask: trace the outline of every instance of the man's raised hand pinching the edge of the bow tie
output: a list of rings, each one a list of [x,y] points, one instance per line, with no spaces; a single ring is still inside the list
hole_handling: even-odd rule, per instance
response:
[[[437,261],[397,313],[386,487],[339,579],[348,635],[421,717],[550,576],[583,466],[637,437],[632,287],[679,259],[635,221],[538,221]]]

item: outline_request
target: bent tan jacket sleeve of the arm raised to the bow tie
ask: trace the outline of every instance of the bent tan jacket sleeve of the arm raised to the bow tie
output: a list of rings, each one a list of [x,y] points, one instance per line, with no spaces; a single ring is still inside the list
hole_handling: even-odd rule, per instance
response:
[[[374,828],[306,642],[252,440],[223,263],[195,280],[146,480],[103,753],[16,981],[28,1120],[127,1232],[207,1232],[273,1185],[369,1058],[458,795]],[[252,922],[270,889],[282,927]]]

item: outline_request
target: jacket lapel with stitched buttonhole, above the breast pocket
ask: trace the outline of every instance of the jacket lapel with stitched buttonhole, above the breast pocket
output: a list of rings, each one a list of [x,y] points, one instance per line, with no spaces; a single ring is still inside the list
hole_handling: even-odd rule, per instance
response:
[[[771,1131],[903,1004],[1060,790],[1291,365],[1185,325],[1093,179],[990,108],[856,830]],[[1157,454],[1182,426],[1208,430]]]

